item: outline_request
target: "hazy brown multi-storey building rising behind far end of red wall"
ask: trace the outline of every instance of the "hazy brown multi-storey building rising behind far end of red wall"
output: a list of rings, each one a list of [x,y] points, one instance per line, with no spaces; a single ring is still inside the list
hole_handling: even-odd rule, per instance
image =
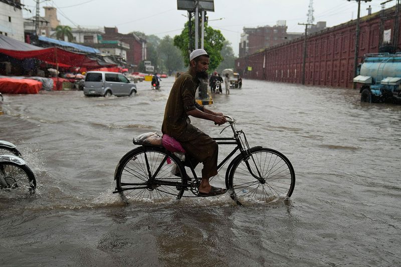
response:
[[[239,50],[240,57],[303,36],[302,33],[287,33],[286,21],[277,21],[273,27],[244,28],[243,31]]]

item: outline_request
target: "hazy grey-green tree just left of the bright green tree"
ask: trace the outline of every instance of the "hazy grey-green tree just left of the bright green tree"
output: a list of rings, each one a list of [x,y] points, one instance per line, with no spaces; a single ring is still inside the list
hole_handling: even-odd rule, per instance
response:
[[[161,66],[164,67],[168,75],[183,68],[181,53],[174,46],[174,42],[170,36],[167,35],[160,41],[157,52],[162,63]]]

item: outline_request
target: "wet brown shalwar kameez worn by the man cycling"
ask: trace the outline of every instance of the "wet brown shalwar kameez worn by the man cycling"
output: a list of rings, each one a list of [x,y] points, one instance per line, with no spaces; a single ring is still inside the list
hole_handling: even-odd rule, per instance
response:
[[[171,88],[164,110],[161,132],[175,138],[186,153],[197,162],[202,162],[202,178],[217,174],[219,146],[209,135],[190,124],[187,111],[203,107],[195,102],[199,80],[188,72],[181,74]]]

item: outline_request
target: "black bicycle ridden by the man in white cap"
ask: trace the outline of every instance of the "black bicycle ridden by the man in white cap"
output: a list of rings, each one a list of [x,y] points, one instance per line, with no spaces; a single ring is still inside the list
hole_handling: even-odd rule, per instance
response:
[[[225,182],[231,198],[239,205],[248,201],[270,202],[291,196],[295,186],[295,172],[291,162],[279,151],[262,146],[249,147],[243,130],[236,130],[236,120],[226,116],[233,137],[213,138],[219,145],[236,147],[218,164],[218,172],[229,163]],[[114,179],[116,188],[125,202],[128,200],[164,201],[172,198],[198,197],[199,177],[187,161],[181,161],[163,146],[142,144],[135,138],[134,148],[117,164]],[[173,163],[173,164],[172,164]],[[189,167],[192,177],[186,173]],[[211,178],[211,180],[213,177]],[[190,192],[189,195],[185,192]]]

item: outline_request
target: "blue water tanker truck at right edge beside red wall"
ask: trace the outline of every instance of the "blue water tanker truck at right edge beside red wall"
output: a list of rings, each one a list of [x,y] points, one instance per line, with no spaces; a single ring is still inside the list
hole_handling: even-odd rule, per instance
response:
[[[353,82],[361,84],[362,102],[401,103],[401,53],[366,54]]]

